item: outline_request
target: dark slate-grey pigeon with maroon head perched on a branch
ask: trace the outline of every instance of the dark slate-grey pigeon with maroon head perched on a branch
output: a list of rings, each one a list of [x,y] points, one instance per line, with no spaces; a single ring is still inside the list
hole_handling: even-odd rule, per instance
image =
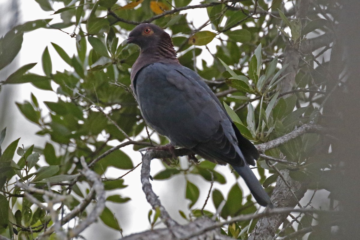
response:
[[[172,146],[191,149],[217,164],[229,163],[258,204],[272,206],[249,165],[259,153],[222,107],[210,87],[179,63],[170,35],[155,24],[136,26],[124,41],[140,47],[131,88],[145,122]]]

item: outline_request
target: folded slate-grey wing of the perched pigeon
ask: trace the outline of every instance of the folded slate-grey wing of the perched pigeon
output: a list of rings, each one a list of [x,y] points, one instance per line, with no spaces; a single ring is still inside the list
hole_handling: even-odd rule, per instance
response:
[[[180,64],[149,64],[136,74],[134,90],[145,121],[172,144],[244,165],[231,120],[197,73]]]

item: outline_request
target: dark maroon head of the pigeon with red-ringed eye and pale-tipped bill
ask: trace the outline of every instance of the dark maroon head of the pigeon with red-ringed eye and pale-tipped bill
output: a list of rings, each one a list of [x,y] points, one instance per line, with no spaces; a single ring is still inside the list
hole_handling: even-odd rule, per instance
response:
[[[160,27],[151,23],[141,23],[130,32],[129,38],[123,44],[133,43],[144,49],[169,40],[171,41],[170,36]]]

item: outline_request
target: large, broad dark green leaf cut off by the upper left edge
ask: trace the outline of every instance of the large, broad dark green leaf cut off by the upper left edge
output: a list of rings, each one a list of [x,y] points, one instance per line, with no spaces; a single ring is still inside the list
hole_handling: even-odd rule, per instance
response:
[[[1,39],[0,69],[9,65],[18,55],[23,42],[23,35],[23,32],[12,29]]]

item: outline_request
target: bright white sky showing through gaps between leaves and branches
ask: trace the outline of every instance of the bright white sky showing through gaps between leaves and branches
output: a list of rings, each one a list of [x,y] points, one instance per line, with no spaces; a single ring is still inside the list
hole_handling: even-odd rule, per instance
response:
[[[0,0],[0,3],[4,3],[5,1],[11,0]],[[19,2],[19,23],[46,18],[54,18],[51,23],[59,21],[59,14],[50,16],[51,12],[44,12],[34,0],[22,0]],[[199,0],[192,1],[191,5],[198,4],[199,2]],[[58,3],[55,3],[54,5],[55,10],[62,7],[63,6]],[[206,9],[198,9],[196,12],[194,10],[188,10],[186,12],[189,13],[188,19],[193,20],[195,26],[200,26],[206,21],[204,20],[207,18]],[[196,15],[194,13],[196,13]],[[190,14],[192,14],[193,17]],[[211,26],[207,26],[206,28],[204,28],[204,30],[211,30]],[[71,33],[73,31],[73,27],[68,28],[66,31]],[[51,46],[50,42],[54,42],[60,45],[68,53],[69,56],[76,54],[75,38],[71,38],[69,35],[59,30],[39,29],[24,34],[22,49],[18,56],[18,67],[28,63],[37,62],[38,64],[33,69],[31,69],[31,72],[44,74],[41,66],[41,55],[45,47],[48,46],[53,65],[53,73],[56,71],[63,71],[64,69],[70,70],[70,67],[60,58],[60,56]],[[121,42],[121,39],[119,39],[119,42]],[[208,46],[210,47],[212,52],[215,51],[214,45]],[[203,51],[203,53],[204,54],[201,55],[201,58],[211,59],[207,58],[207,51]],[[201,63],[199,58],[197,60],[199,63]],[[15,71],[15,69],[13,69],[13,71]],[[10,72],[13,71],[10,70]],[[20,144],[23,144],[25,147],[32,144],[44,146],[45,142],[49,141],[49,137],[41,137],[35,135],[35,132],[39,131],[39,129],[37,129],[35,124],[27,121],[21,115],[14,101],[22,103],[24,100],[30,100],[30,94],[32,92],[39,100],[40,107],[46,111],[47,108],[44,104],[42,104],[42,101],[57,101],[57,95],[54,92],[39,90],[33,87],[30,83],[4,86],[2,91],[8,91],[10,90],[10,88],[16,92],[16,95],[13,96],[14,99],[2,99],[0,93],[0,101],[7,100],[10,101],[12,104],[11,112],[7,113],[7,118],[9,121],[12,122],[12,124],[9,124],[10,126],[8,126],[8,134],[3,143],[3,146],[7,146],[10,142],[14,141],[19,137],[21,137]],[[114,143],[114,145],[116,144],[117,143]],[[132,146],[127,146],[125,148],[122,148],[122,150],[124,150],[127,154],[130,155],[131,159],[134,162],[134,165],[140,162],[140,153],[134,152],[132,150]],[[181,163],[185,166],[185,164],[187,164],[186,159],[182,159]],[[151,175],[155,175],[159,171],[159,169],[163,168],[159,160],[153,160],[151,167]],[[226,197],[230,187],[235,183],[235,177],[233,174],[230,174],[230,169],[228,166],[218,166],[217,170],[226,177],[228,183],[226,185],[220,185],[215,182],[213,189],[217,188],[221,190],[223,195]],[[107,171],[105,175],[108,178],[116,178],[123,175],[125,172],[127,171],[112,168]],[[135,171],[131,172],[124,179],[125,184],[128,184],[129,187],[120,190],[119,194],[121,194],[123,197],[128,196],[132,200],[126,204],[115,204],[108,202],[106,205],[113,212],[115,212],[115,216],[118,219],[120,226],[123,228],[123,234],[125,236],[131,233],[149,229],[150,225],[148,223],[147,215],[150,209],[150,205],[145,200],[145,195],[141,189],[140,167],[135,169]],[[204,181],[199,176],[190,175],[188,176],[188,179],[195,185],[197,185],[200,189],[201,195],[197,204],[195,204],[194,207],[201,208],[206,199],[210,183]],[[249,191],[244,182],[242,180],[239,180],[238,182],[240,186],[245,186],[242,187],[244,191],[243,195],[245,196],[249,194]],[[185,184],[186,180],[183,176],[172,177],[170,180],[165,181],[152,181],[153,189],[155,193],[160,197],[162,204],[170,212],[170,215],[180,223],[185,223],[185,220],[180,217],[178,210],[186,209],[186,206],[189,204],[189,201],[185,200]],[[167,189],[165,189],[164,186],[167,186]],[[116,194],[116,192],[113,191],[111,195],[113,194]],[[209,199],[206,209],[212,211],[214,210],[211,199]],[[185,212],[185,214],[188,213]],[[86,237],[86,239],[118,239],[121,237],[118,232],[112,230],[112,228],[103,225],[101,221],[87,228],[87,230],[83,232],[83,235]]]

